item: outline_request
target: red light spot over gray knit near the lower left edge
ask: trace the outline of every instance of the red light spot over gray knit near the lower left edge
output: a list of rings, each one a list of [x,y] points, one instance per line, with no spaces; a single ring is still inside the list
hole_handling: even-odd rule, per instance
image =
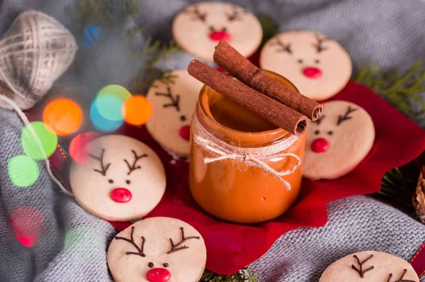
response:
[[[11,225],[18,241],[29,248],[42,235],[45,223],[37,208],[21,207],[13,211]]]

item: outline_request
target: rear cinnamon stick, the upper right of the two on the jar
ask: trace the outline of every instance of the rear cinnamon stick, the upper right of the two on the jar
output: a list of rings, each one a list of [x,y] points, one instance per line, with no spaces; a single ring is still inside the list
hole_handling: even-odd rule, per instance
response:
[[[215,47],[213,58],[216,64],[247,86],[293,108],[310,120],[317,120],[323,111],[322,105],[268,77],[266,73],[251,64],[241,53],[223,40]]]

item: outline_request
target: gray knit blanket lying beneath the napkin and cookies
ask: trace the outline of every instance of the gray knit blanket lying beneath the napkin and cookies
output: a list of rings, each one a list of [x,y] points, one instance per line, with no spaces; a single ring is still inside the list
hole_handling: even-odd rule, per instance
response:
[[[75,0],[78,1],[78,0]],[[139,0],[141,9],[134,23],[145,24],[147,35],[169,40],[174,15],[190,0]],[[261,0],[233,1],[254,13],[271,16],[280,31],[310,29],[337,40],[348,51],[354,67],[367,61],[382,67],[406,69],[425,56],[425,2],[421,0]],[[70,24],[67,5],[72,0],[0,0],[0,36],[19,13],[37,9]],[[126,83],[133,62],[124,52],[106,50],[91,61],[84,73],[81,91],[72,98],[91,100],[89,89],[108,84],[114,77]],[[108,55],[111,52],[113,56]],[[109,61],[105,62],[108,56]],[[164,68],[183,68],[191,60],[184,52],[162,62]],[[120,62],[120,64],[118,64]],[[115,67],[105,69],[111,65]],[[118,67],[117,67],[118,66]],[[119,66],[125,66],[123,68]],[[84,68],[84,69],[87,69]],[[76,81],[70,71],[61,81]],[[94,74],[96,72],[96,76]],[[88,85],[88,81],[92,83]],[[86,85],[84,85],[86,84]],[[77,87],[77,86],[74,86]],[[8,159],[23,154],[23,125],[16,113],[0,109],[0,281],[111,281],[106,249],[114,228],[86,213],[73,198],[50,181],[39,162],[40,177],[27,188],[17,188],[8,178]],[[44,218],[44,232],[33,248],[26,248],[13,235],[11,215],[32,206]],[[356,196],[328,205],[329,222],[324,227],[300,228],[286,233],[270,251],[251,265],[262,280],[318,281],[331,262],[362,250],[389,252],[409,260],[425,241],[425,225],[390,205],[368,196]],[[93,244],[96,242],[96,244]],[[425,281],[423,278],[421,281]]]

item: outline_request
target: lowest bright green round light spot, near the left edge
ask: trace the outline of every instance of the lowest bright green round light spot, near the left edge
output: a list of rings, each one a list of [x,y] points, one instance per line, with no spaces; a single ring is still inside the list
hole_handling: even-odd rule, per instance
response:
[[[37,162],[23,154],[8,160],[7,171],[9,179],[18,187],[33,185],[40,175]]]

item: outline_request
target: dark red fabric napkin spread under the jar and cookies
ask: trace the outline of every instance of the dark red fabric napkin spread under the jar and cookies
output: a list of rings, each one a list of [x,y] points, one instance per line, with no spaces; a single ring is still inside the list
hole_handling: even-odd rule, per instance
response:
[[[297,227],[319,227],[326,224],[326,205],[330,201],[378,192],[386,171],[412,161],[424,151],[425,131],[364,86],[349,82],[331,100],[351,101],[368,111],[376,131],[375,144],[370,154],[356,169],[340,179],[304,180],[302,192],[293,208],[280,218],[259,225],[223,222],[204,213],[193,200],[188,188],[188,163],[178,160],[172,164],[174,162],[171,156],[152,140],[145,127],[124,125],[118,132],[135,137],[152,147],[166,169],[166,193],[147,218],[168,216],[193,225],[205,239],[208,250],[207,269],[231,274],[259,259],[285,232]],[[55,158],[60,158],[60,152],[55,152],[51,158],[52,167],[65,179],[67,170],[60,162],[54,161]],[[111,223],[118,230],[123,230],[130,224]]]

